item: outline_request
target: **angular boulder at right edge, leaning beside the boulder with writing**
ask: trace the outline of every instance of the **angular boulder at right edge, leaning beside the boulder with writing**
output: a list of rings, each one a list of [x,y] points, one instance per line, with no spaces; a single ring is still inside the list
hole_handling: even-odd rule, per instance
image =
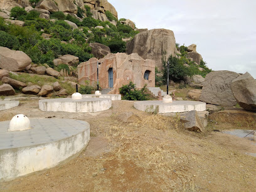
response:
[[[240,107],[256,112],[256,80],[250,73],[235,78],[230,88]]]

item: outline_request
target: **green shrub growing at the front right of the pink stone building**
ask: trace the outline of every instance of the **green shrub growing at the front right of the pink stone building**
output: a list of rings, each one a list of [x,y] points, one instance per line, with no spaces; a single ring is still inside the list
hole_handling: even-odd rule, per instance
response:
[[[135,88],[135,84],[129,82],[128,85],[123,85],[119,88],[119,92],[125,100],[148,100],[149,94],[146,93],[146,85],[141,90]]]

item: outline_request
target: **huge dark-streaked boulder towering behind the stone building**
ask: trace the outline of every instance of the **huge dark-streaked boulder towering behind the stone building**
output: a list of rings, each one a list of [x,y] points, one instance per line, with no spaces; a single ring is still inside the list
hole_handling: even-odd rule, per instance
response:
[[[137,34],[127,43],[126,53],[137,53],[144,59],[151,59],[156,62],[159,70],[163,69],[162,58],[175,55],[176,41],[174,33],[168,29],[152,29]]]

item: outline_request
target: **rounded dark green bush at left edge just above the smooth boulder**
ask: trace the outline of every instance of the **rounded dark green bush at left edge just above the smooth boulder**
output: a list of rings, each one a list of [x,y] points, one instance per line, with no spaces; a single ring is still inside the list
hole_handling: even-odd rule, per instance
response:
[[[4,31],[0,31],[0,46],[5,46],[9,49],[18,50],[19,41],[14,35],[9,35]]]

